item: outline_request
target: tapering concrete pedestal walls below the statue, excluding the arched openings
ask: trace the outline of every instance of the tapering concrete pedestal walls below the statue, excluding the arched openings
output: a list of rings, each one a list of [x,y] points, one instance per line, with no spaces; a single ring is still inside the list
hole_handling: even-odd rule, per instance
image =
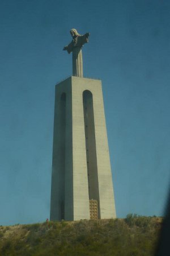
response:
[[[98,180],[99,217],[116,217],[101,81],[72,76],[56,85],[51,220],[61,220],[63,216],[61,216],[61,201],[65,205],[65,220],[90,218],[83,112],[84,90],[92,93],[93,101],[97,177],[91,177],[91,184],[95,184],[93,179]],[[63,93],[66,95],[65,119],[62,119],[61,113]],[[91,144],[90,147],[92,147]],[[94,150],[94,148],[91,149]]]

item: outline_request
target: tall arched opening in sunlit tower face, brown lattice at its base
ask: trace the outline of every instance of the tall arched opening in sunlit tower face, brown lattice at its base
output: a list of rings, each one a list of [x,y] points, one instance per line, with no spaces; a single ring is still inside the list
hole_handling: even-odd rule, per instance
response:
[[[90,90],[83,92],[84,131],[86,139],[86,159],[88,175],[88,195],[90,200],[90,217],[100,218],[99,182],[97,175],[97,156],[94,122],[93,97]]]

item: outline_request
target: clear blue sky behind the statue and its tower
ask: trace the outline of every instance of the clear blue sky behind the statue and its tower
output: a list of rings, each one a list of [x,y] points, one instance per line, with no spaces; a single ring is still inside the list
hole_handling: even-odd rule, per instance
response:
[[[117,217],[162,216],[170,181],[170,3],[1,1],[0,224],[49,218],[54,87],[69,30],[90,32],[84,76],[103,84]]]

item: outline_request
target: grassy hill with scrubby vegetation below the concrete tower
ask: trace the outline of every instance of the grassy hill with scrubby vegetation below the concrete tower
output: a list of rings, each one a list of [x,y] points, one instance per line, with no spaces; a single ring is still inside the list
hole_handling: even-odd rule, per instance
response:
[[[0,226],[1,256],[154,255],[161,218],[44,222]]]

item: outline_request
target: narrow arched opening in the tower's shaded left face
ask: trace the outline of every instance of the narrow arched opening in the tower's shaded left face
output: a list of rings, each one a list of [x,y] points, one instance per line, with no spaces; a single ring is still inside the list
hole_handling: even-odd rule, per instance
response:
[[[65,156],[66,156],[66,93],[61,94],[59,113],[59,134],[60,134],[60,217],[65,219]]]

